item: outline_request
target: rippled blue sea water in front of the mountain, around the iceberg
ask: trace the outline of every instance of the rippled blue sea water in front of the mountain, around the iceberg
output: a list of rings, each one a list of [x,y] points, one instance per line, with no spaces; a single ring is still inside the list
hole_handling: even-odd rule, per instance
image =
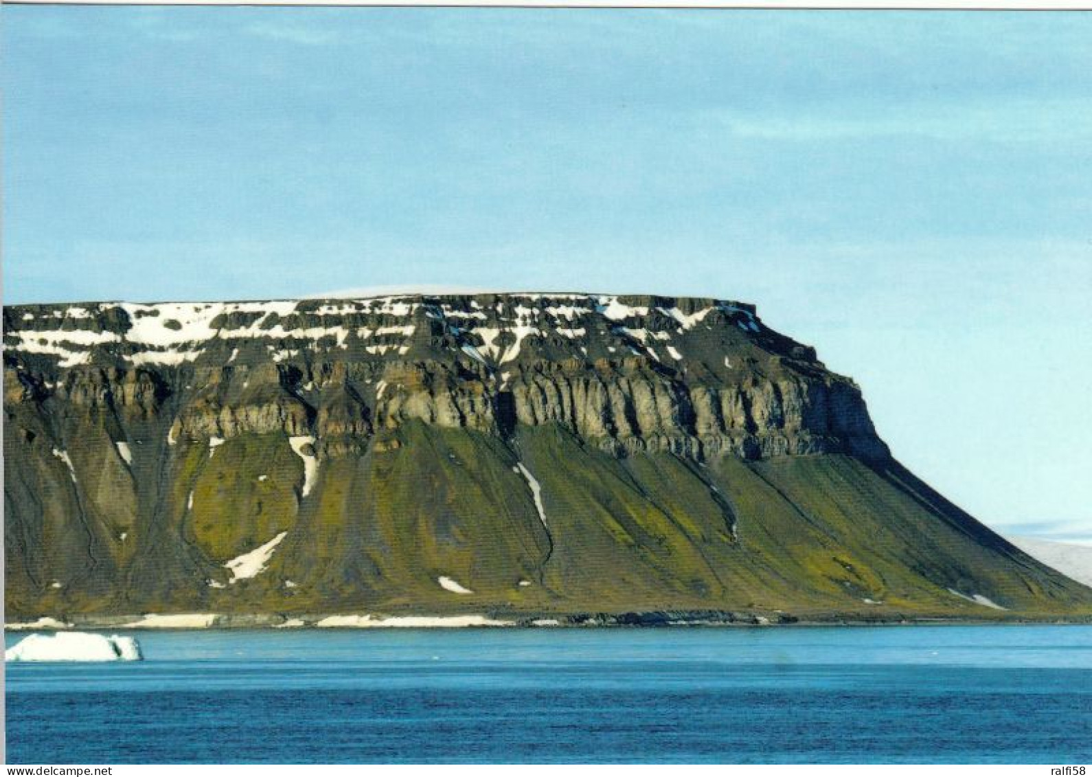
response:
[[[9,762],[1092,761],[1085,626],[136,636],[9,664]]]

